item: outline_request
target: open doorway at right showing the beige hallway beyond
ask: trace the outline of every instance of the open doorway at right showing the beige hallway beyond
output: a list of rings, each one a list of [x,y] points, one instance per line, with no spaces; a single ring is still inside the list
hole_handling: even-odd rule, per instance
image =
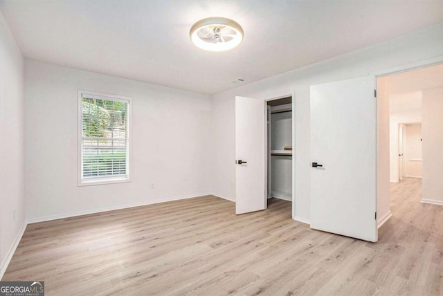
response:
[[[422,192],[417,203],[443,205],[443,169],[436,165],[443,161],[443,64],[378,77],[377,92],[380,227],[411,184]]]

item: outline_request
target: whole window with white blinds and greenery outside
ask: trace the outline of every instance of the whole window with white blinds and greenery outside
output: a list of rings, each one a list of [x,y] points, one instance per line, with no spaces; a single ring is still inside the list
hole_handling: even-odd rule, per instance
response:
[[[129,181],[129,98],[79,91],[78,185]]]

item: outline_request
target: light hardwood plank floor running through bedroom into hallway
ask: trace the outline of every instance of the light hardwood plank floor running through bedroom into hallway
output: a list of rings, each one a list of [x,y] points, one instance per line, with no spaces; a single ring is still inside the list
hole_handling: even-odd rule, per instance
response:
[[[214,196],[28,225],[3,281],[46,295],[443,295],[443,207],[391,186],[368,243],[291,220],[291,203],[235,216]]]

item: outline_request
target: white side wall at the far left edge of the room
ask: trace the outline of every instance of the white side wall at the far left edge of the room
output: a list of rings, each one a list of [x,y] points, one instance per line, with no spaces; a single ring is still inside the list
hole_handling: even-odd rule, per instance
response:
[[[23,84],[24,60],[0,12],[0,279],[25,225]]]

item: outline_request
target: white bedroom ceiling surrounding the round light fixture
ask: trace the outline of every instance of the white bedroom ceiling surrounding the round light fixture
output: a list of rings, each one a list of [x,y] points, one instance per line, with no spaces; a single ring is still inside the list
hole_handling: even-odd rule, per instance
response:
[[[443,22],[443,0],[0,0],[28,59],[218,93]],[[242,25],[224,53],[189,39],[210,16]]]

